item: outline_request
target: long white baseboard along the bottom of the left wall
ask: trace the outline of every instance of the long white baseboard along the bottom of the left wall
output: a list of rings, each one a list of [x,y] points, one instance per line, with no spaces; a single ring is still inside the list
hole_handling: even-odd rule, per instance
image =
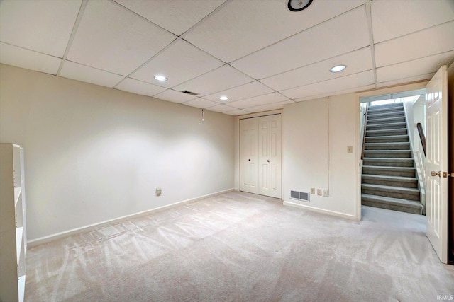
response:
[[[183,200],[182,202],[175,202],[174,204],[167,204],[166,206],[157,207],[155,209],[149,209],[149,210],[146,210],[146,211],[140,211],[140,212],[135,213],[135,214],[121,216],[121,217],[118,217],[118,218],[115,218],[115,219],[109,219],[109,220],[106,220],[106,221],[101,221],[99,223],[93,223],[93,224],[90,224],[88,226],[82,226],[80,228],[72,228],[71,230],[68,230],[68,231],[63,231],[63,232],[55,233],[55,234],[52,234],[52,235],[49,235],[49,236],[43,236],[43,237],[36,238],[36,239],[33,239],[33,240],[28,240],[27,241],[27,247],[31,248],[31,247],[36,246],[36,245],[40,245],[40,244],[43,244],[43,243],[48,243],[50,241],[57,240],[57,239],[60,239],[60,238],[65,238],[67,236],[71,236],[71,235],[74,235],[74,234],[77,234],[77,233],[93,231],[96,228],[101,228],[102,226],[108,226],[108,225],[110,225],[112,223],[118,223],[118,222],[125,221],[125,220],[128,220],[128,219],[133,219],[133,218],[138,217],[138,216],[143,216],[143,215],[147,215],[147,214],[156,213],[158,211],[164,211],[164,210],[167,210],[167,209],[180,207],[180,206],[182,206],[184,204],[190,204],[191,202],[196,202],[196,201],[198,201],[200,199],[204,199],[204,198],[207,198],[207,197],[214,197],[214,196],[217,196],[217,195],[220,195],[220,194],[232,192],[234,190],[235,189],[232,188],[232,189],[228,189],[228,190],[214,192],[214,193],[211,193],[211,194],[206,194],[204,196]]]

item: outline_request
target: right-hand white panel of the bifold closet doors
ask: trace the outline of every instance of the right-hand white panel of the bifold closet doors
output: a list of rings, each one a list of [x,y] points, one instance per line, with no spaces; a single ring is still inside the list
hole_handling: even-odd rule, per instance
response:
[[[259,119],[259,194],[281,198],[281,115]]]

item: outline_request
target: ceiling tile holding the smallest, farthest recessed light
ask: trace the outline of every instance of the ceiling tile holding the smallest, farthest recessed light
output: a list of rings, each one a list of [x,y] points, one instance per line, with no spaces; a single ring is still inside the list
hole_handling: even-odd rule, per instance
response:
[[[207,100],[214,100],[216,102],[220,102],[221,100],[219,100],[219,98],[221,97],[221,95],[226,95],[228,97],[228,100],[226,102],[233,102],[236,100],[252,98],[254,96],[264,95],[272,92],[273,90],[271,88],[268,88],[267,86],[263,85],[258,81],[253,81],[252,83],[247,83],[242,86],[227,89],[226,91],[206,95],[204,96],[204,98],[206,98]]]

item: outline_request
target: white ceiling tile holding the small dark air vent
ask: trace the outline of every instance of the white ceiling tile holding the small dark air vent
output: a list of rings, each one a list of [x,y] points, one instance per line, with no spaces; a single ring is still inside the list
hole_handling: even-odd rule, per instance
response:
[[[252,81],[253,79],[249,76],[246,76],[231,66],[226,65],[195,79],[189,80],[186,83],[182,83],[174,89],[176,91],[192,91],[194,93],[199,93],[200,96],[204,96]]]

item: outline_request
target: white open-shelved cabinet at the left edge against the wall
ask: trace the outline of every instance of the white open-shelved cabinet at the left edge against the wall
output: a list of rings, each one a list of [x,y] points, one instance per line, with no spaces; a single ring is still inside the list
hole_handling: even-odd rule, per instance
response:
[[[0,174],[0,301],[23,301],[27,236],[21,146],[0,144]]]

